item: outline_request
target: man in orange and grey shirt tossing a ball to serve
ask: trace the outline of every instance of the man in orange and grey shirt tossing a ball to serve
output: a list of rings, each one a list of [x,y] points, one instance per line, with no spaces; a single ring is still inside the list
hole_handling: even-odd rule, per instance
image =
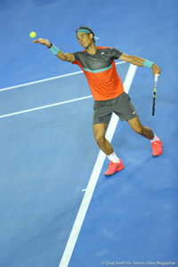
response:
[[[111,113],[115,112],[121,121],[127,121],[134,132],[150,139],[152,156],[163,153],[163,144],[156,134],[147,126],[143,126],[138,113],[134,109],[130,97],[124,92],[123,84],[118,77],[114,60],[121,60],[140,67],[149,67],[153,75],[161,69],[153,62],[137,56],[127,55],[115,48],[96,46],[93,30],[80,27],[76,31],[77,40],[85,50],[77,53],[62,53],[48,40],[39,38],[34,43],[45,44],[61,61],[77,64],[85,73],[93,93],[93,134],[99,148],[107,155],[110,164],[106,176],[117,173],[124,168],[123,162],[117,158],[111,144],[105,138]]]

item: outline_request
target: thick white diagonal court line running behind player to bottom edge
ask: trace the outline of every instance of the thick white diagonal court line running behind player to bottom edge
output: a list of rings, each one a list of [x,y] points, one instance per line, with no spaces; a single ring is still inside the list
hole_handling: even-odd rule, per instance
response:
[[[125,88],[126,93],[129,92],[130,86],[134,79],[134,74],[135,74],[136,69],[137,69],[136,66],[130,65],[127,71],[127,74],[125,77],[125,83],[124,83],[124,88]],[[115,114],[113,114],[109,122],[109,127],[106,133],[106,138],[109,140],[109,142],[111,142],[112,137],[115,133],[117,122],[118,122],[118,117]],[[93,167],[93,173],[90,177],[90,180],[88,182],[88,185],[85,191],[85,196],[78,210],[76,221],[73,225],[72,231],[70,232],[69,240],[64,250],[64,253],[62,255],[61,263],[59,267],[68,267],[69,265],[71,255],[73,253],[74,247],[76,246],[79,232],[85,220],[85,214],[87,212],[88,206],[90,205],[90,201],[93,197],[93,191],[95,189],[98,178],[101,174],[101,168],[103,166],[105,158],[106,158],[106,155],[100,150],[98,158],[96,159],[96,163]]]

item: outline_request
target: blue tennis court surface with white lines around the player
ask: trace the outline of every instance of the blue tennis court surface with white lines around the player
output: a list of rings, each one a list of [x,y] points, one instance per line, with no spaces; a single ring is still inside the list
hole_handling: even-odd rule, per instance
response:
[[[0,7],[0,266],[178,266],[177,2],[19,0]],[[125,169],[108,178],[84,74],[28,36],[35,30],[73,53],[81,50],[81,24],[93,28],[97,45],[162,68],[152,117],[151,69],[116,61],[164,153],[153,158],[150,141],[113,114],[107,137]]]

